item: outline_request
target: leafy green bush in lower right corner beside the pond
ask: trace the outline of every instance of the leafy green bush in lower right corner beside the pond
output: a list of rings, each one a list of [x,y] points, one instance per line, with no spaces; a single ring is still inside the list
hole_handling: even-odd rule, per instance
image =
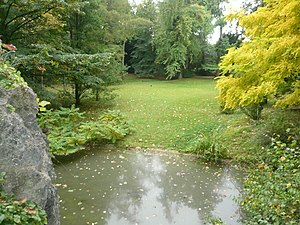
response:
[[[299,224],[300,147],[293,136],[285,143],[274,138],[264,161],[245,181],[241,205],[246,224]]]

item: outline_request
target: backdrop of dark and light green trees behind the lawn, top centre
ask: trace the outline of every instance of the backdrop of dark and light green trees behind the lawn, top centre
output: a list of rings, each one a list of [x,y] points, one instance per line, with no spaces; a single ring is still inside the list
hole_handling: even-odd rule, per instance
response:
[[[226,38],[222,38],[226,24],[222,3],[223,0],[144,0],[139,4],[136,16],[151,23],[129,43],[129,64],[135,73],[172,79],[217,74],[220,54],[229,47]],[[208,41],[214,27],[220,27],[218,45]]]

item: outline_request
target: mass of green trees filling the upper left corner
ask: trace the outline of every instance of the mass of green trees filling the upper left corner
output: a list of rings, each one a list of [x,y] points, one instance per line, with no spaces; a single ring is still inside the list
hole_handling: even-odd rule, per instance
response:
[[[129,20],[127,0],[0,4],[1,34],[21,49],[16,65],[38,94],[47,92],[44,86],[63,83],[73,87],[79,106],[88,89],[98,96],[120,80],[123,42],[132,33],[123,23]]]

